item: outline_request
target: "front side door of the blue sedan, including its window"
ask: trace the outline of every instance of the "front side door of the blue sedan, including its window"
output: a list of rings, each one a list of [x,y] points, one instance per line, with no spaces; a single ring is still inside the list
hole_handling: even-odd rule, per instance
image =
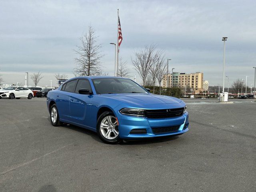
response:
[[[78,80],[74,93],[70,93],[70,118],[72,122],[88,126],[92,94],[79,94],[80,89],[88,89],[92,92],[90,82],[87,79]]]

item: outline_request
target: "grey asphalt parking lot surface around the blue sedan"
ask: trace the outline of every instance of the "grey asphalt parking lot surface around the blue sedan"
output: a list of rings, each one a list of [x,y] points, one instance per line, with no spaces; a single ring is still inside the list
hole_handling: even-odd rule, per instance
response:
[[[104,144],[53,127],[46,98],[0,100],[1,192],[255,192],[256,102],[184,99],[189,132]]]

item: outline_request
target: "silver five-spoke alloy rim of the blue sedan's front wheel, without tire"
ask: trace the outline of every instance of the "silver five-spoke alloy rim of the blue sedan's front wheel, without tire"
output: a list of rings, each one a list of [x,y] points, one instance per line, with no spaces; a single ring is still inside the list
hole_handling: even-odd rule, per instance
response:
[[[100,132],[106,139],[115,139],[119,135],[116,117],[106,116],[100,123]]]

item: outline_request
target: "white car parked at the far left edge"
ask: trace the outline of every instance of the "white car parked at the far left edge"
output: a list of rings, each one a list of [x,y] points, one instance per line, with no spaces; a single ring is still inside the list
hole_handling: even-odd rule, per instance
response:
[[[20,99],[20,98],[33,98],[33,92],[32,90],[26,88],[26,87],[8,87],[4,90],[0,91],[0,99],[1,98],[9,98],[9,99]]]

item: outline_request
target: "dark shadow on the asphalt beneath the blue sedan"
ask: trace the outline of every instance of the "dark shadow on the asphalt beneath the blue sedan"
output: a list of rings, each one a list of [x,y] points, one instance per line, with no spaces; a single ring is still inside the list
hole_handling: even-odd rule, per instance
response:
[[[47,119],[48,119],[49,123],[51,123],[50,117],[48,117]],[[88,130],[86,128],[82,128],[82,127],[75,126],[75,125],[72,125],[72,124],[64,124],[61,127],[68,128],[68,129],[71,129],[71,130],[74,130],[74,131],[78,131],[78,132],[83,133],[83,134],[87,134],[87,135],[91,136],[94,140],[96,140],[100,143],[104,143],[104,142],[102,142],[102,140],[100,140],[97,133],[92,131],[92,130]],[[145,138],[145,139],[140,139],[140,140],[123,140],[119,144],[120,145],[154,144],[154,143],[173,141],[173,140],[176,140],[178,138],[179,138],[179,136],[162,136],[162,137],[158,137],[158,138]]]

